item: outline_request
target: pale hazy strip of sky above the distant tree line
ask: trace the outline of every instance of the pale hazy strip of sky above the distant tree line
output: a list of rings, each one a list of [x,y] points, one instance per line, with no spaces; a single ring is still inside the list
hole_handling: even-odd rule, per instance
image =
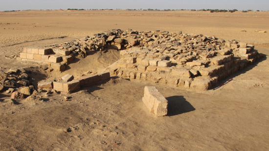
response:
[[[27,9],[269,10],[269,0],[0,0],[0,11]]]

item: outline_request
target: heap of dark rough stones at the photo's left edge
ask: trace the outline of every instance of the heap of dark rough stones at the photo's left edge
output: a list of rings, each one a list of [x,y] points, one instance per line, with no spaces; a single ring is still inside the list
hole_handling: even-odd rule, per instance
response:
[[[35,79],[30,78],[23,68],[0,71],[0,92],[11,93],[12,99],[26,98],[36,91],[31,84],[33,81]]]

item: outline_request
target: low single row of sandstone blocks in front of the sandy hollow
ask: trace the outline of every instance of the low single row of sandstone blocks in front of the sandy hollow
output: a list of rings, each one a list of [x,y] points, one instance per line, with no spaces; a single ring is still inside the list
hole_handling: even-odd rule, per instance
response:
[[[81,87],[91,86],[96,84],[97,82],[109,79],[110,73],[105,72],[95,75],[86,75],[75,80],[73,80],[73,78],[74,77],[72,75],[67,74],[61,78],[61,81],[39,83],[38,88],[43,89],[53,88],[56,91],[71,93],[78,91]]]

